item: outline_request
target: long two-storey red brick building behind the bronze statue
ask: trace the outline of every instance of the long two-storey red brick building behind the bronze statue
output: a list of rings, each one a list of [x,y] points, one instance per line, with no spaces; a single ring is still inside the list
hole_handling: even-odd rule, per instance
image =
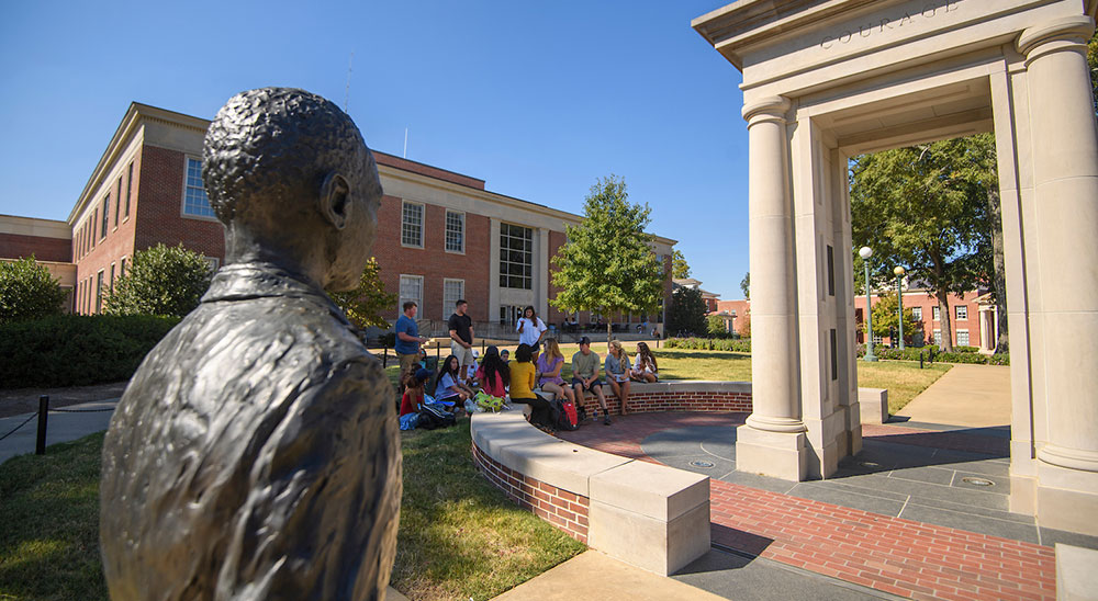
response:
[[[96,165],[66,222],[0,216],[0,257],[31,252],[68,270],[71,309],[101,310],[104,293],[125,273],[135,250],[182,245],[217,267],[224,227],[202,185],[202,141],[210,122],[133,103]],[[458,298],[469,300],[481,336],[509,331],[520,307],[547,324],[565,316],[548,300],[550,259],[564,226],[581,217],[485,190],[484,181],[374,151],[385,195],[373,253],[389,292],[419,304],[422,329],[438,331]],[[675,241],[656,237],[670,273]],[[47,259],[48,257],[48,259]],[[67,265],[67,267],[66,267]],[[52,268],[54,269],[54,268]],[[65,284],[63,279],[63,285]],[[664,285],[670,302],[671,279]],[[662,322],[662,315],[574,316],[582,322]]]

